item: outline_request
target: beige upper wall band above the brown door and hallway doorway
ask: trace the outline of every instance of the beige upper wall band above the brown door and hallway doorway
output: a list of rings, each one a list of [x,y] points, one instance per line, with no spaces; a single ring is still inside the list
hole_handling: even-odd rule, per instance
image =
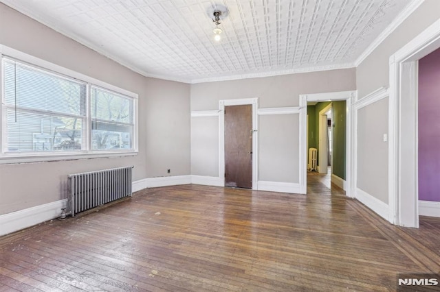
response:
[[[355,69],[206,82],[191,86],[191,110],[218,110],[219,100],[259,98],[260,108],[298,106],[299,95],[355,90]]]

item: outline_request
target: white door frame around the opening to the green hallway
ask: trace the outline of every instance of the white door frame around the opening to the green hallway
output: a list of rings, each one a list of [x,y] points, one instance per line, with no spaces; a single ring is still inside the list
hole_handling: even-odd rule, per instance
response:
[[[307,101],[333,101],[333,100],[345,100],[347,101],[347,130],[346,130],[346,152],[345,152],[345,180],[346,188],[345,193],[347,197],[353,197],[353,182],[351,180],[353,173],[353,151],[352,151],[352,135],[351,127],[353,125],[353,113],[351,110],[351,105],[357,99],[357,91],[340,91],[335,93],[316,93],[308,95],[300,95],[300,189],[301,193],[307,193]]]

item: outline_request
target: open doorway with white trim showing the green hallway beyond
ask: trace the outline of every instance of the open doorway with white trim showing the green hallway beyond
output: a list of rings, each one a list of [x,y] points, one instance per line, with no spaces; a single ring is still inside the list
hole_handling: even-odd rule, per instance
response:
[[[301,150],[305,156],[305,175],[300,177],[304,193],[307,193],[307,174],[327,173],[329,188],[335,184],[351,197],[351,100],[355,94],[355,91],[342,91],[300,95],[300,106],[306,109],[303,125],[308,125],[303,132],[307,141]],[[324,130],[320,132],[319,127]],[[312,172],[309,169],[311,148],[316,148],[319,166]]]

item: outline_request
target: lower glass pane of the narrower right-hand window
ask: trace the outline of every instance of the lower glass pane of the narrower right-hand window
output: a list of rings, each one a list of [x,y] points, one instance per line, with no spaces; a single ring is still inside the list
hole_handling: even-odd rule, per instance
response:
[[[94,122],[91,131],[91,148],[131,149],[133,126],[117,123]]]

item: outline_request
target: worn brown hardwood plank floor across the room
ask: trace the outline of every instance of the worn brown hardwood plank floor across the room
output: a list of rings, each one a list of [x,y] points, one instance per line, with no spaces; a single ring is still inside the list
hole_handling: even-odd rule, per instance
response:
[[[440,271],[439,219],[398,228],[322,180],[149,188],[0,237],[0,291],[395,291]]]

